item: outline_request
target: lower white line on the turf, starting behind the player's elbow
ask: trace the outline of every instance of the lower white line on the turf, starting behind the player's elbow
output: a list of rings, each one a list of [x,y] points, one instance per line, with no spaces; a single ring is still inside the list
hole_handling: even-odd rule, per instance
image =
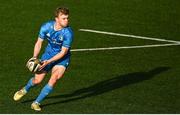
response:
[[[180,44],[155,44],[155,45],[143,45],[143,46],[122,46],[122,47],[107,47],[107,48],[87,48],[87,49],[72,49],[71,51],[72,52],[100,51],[100,50],[150,48],[150,47],[177,46],[177,45],[180,45]]]

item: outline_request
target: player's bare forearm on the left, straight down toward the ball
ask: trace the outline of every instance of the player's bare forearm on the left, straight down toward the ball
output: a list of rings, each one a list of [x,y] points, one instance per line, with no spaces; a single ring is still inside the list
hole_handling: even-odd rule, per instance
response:
[[[35,46],[34,46],[33,58],[37,58],[38,57],[38,55],[39,55],[39,53],[41,51],[42,43],[43,43],[43,39],[38,38],[38,40],[36,41]]]

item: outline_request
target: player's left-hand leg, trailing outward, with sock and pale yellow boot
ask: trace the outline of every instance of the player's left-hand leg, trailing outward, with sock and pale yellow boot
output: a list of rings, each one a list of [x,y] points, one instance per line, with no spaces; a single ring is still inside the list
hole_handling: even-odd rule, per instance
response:
[[[28,83],[25,85],[25,87],[23,87],[21,90],[17,91],[14,94],[13,99],[15,101],[20,100],[24,95],[27,94],[27,92],[30,90],[31,87],[33,87],[36,84],[39,84],[43,79],[44,76],[46,75],[46,72],[42,72],[40,74],[35,74],[35,77],[32,77]]]

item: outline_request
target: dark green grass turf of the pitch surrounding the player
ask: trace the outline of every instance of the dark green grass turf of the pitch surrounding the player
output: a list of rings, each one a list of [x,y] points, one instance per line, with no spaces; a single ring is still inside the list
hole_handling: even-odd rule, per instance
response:
[[[1,1],[0,113],[37,113],[30,105],[50,75],[20,102],[12,97],[29,80],[25,64],[39,28],[53,19],[59,5],[71,12],[72,49],[168,43],[80,32],[81,28],[180,41],[178,0]],[[72,52],[65,77],[39,113],[180,113],[179,50],[169,46]]]

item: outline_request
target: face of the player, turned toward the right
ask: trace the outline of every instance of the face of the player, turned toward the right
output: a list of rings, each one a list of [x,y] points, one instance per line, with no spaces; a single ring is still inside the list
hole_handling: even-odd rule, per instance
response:
[[[58,17],[56,17],[56,21],[61,27],[66,27],[69,23],[69,15],[59,13]]]

